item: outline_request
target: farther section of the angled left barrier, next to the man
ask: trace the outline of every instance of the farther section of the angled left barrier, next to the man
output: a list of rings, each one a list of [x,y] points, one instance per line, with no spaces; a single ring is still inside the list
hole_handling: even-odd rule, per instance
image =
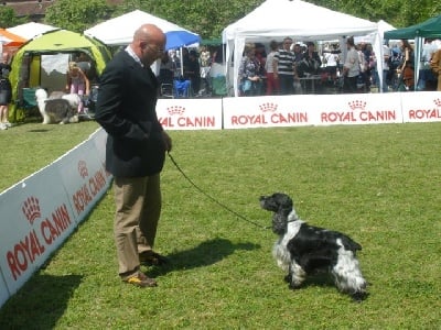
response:
[[[78,222],[92,211],[111,183],[94,140],[87,140],[69,151],[56,164],[68,200]]]

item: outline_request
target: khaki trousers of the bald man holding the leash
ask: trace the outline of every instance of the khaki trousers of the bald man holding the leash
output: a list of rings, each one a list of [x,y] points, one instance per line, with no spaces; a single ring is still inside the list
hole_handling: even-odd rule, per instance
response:
[[[139,253],[151,251],[161,215],[160,174],[114,180],[116,215],[114,234],[119,275],[139,271]]]

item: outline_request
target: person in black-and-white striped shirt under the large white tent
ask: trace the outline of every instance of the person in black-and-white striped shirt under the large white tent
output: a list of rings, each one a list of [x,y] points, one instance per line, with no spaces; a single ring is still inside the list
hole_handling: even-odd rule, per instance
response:
[[[280,94],[294,92],[295,54],[291,52],[292,38],[287,36],[273,59],[273,76],[279,79]]]

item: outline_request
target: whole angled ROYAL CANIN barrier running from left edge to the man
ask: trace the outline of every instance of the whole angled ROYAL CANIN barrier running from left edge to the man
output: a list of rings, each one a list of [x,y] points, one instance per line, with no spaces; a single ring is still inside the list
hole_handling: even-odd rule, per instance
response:
[[[39,270],[107,191],[106,133],[0,195],[0,306]]]

